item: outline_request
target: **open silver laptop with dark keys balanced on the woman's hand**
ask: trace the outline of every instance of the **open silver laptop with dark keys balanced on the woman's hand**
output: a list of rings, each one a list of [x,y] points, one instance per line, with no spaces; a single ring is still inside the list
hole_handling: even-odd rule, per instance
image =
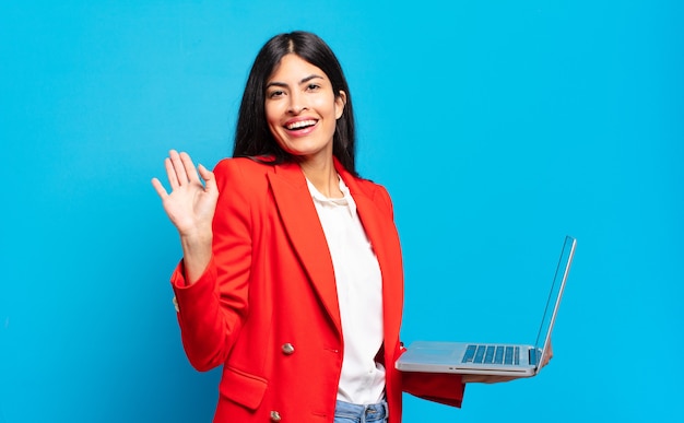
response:
[[[553,279],[541,328],[534,345],[511,343],[416,341],[396,363],[402,372],[458,373],[472,375],[534,376],[551,345],[556,320],[577,240],[565,237],[558,267]]]

